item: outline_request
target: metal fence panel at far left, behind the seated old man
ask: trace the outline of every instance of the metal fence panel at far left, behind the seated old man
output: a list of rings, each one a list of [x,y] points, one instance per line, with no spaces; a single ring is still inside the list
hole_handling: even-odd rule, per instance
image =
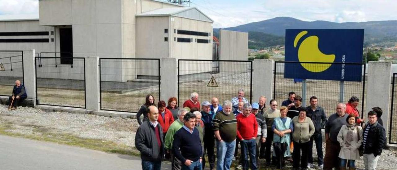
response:
[[[0,51],[0,96],[12,94],[15,80],[23,84],[23,52]],[[27,92],[28,93],[28,92]]]

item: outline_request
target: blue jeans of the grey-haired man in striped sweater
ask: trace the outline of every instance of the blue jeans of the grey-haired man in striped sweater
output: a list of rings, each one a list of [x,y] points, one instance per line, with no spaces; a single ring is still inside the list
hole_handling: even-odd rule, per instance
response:
[[[216,169],[217,170],[230,170],[231,160],[234,156],[234,149],[236,147],[236,140],[232,142],[216,140]]]

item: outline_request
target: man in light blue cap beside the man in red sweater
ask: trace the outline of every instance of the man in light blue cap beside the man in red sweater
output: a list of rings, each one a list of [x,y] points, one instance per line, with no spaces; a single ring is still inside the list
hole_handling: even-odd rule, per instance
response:
[[[263,114],[258,112],[259,104],[254,102],[252,103],[251,114],[255,115],[256,122],[258,123],[258,134],[256,135],[256,162],[258,162],[259,158],[259,148],[266,142],[267,137],[267,129],[266,129],[266,119]]]

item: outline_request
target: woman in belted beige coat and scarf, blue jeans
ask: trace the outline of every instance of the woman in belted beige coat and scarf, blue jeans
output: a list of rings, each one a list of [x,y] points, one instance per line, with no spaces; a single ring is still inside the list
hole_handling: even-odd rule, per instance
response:
[[[360,159],[358,148],[362,143],[362,127],[357,126],[357,119],[354,114],[350,114],[346,119],[347,124],[341,127],[337,140],[341,144],[339,158],[341,158],[340,170],[355,170],[355,160]]]

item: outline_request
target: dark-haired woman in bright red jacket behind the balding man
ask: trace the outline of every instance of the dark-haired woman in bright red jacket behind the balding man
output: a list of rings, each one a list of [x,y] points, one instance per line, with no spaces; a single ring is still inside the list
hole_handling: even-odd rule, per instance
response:
[[[160,100],[157,103],[157,107],[159,114],[157,122],[163,127],[163,133],[164,136],[166,136],[168,128],[171,126],[174,119],[171,111],[166,108],[166,102],[164,102],[164,100]]]

